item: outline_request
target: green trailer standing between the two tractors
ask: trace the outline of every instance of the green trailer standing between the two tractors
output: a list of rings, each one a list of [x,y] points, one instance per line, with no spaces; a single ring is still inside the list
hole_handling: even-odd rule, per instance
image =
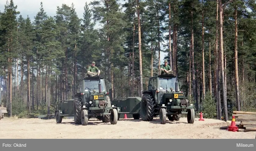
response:
[[[141,97],[114,98],[111,104],[117,107],[118,120],[120,114],[132,114],[134,119],[141,117]]]

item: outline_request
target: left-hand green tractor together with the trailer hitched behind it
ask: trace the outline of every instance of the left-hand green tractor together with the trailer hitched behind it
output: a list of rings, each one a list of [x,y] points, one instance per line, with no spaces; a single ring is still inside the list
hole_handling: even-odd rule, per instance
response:
[[[60,100],[55,111],[56,122],[61,123],[63,117],[74,116],[75,124],[87,125],[92,117],[103,122],[116,124],[117,108],[111,105],[109,87],[111,83],[100,77],[86,77],[79,83],[79,93],[74,99]]]

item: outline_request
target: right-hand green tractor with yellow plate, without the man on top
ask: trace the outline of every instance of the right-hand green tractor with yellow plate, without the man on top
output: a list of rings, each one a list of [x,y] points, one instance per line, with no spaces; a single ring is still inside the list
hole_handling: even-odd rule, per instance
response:
[[[194,106],[185,99],[185,93],[179,90],[177,76],[150,77],[148,90],[143,91],[142,94],[141,118],[143,121],[152,121],[154,116],[159,115],[161,124],[165,124],[166,117],[170,121],[179,121],[181,114],[187,114],[188,123],[194,123]]]

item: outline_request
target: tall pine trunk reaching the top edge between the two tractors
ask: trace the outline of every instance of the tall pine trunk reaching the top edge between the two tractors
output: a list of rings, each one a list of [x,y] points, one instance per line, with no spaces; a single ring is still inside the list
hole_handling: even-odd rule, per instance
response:
[[[143,79],[142,79],[142,55],[141,55],[141,19],[139,0],[137,0],[137,14],[138,14],[138,39],[139,39],[139,65],[140,65],[140,97],[142,97],[143,91]]]

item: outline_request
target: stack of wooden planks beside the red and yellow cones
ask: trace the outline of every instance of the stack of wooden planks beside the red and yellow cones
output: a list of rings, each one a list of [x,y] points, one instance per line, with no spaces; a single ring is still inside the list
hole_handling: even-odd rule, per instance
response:
[[[256,132],[256,112],[233,111],[236,121],[241,123],[238,125],[238,131]]]

